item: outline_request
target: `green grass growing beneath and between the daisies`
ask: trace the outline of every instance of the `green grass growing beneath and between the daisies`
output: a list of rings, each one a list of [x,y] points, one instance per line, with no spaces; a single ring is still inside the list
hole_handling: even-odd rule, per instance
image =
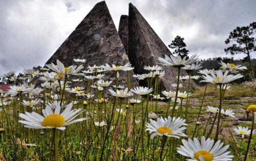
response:
[[[246,91],[246,94],[241,91],[237,91],[242,88]],[[186,134],[191,138],[196,129],[196,121],[201,106],[201,101],[203,97],[205,87],[199,87],[198,90],[193,91],[193,97],[190,100],[195,99],[194,104],[190,104],[187,114],[187,129]],[[252,90],[245,85],[231,85],[231,89],[236,92],[226,91],[223,108],[225,109],[246,109],[248,105],[255,103],[255,100],[245,99],[243,101],[238,101],[240,98],[244,97],[255,97]],[[241,90],[241,89],[240,89]],[[206,90],[206,99],[204,100],[201,114],[200,122],[202,123],[199,128],[196,129],[195,136],[199,138],[203,135],[202,132],[206,126],[206,121],[209,118],[209,113],[205,111],[205,108],[208,106],[219,106],[219,96],[218,88],[213,85],[208,85]],[[67,96],[67,101],[74,99],[74,95],[70,94]],[[25,97],[24,97],[25,99]],[[143,98],[144,101],[147,101],[146,98]],[[146,159],[160,159],[160,147],[163,143],[162,136],[156,136],[154,140],[150,139],[150,135],[145,131],[145,127],[142,130],[142,123],[133,125],[133,118],[140,120],[142,122],[142,117],[145,113],[146,102],[136,106],[126,104],[126,101],[120,103],[120,99],[117,99],[116,102],[114,99],[110,99],[104,107],[104,103],[96,103],[94,100],[87,100],[88,105],[83,106],[82,98],[78,98],[80,101],[77,105],[73,105],[73,109],[84,108],[86,111],[82,113],[83,117],[89,117],[87,121],[78,122],[76,124],[69,125],[66,131],[59,130],[58,133],[58,159],[59,160],[98,160],[103,153],[105,160],[111,160],[111,157],[115,157],[113,160],[142,160],[144,158],[143,151],[146,153]],[[68,101],[70,102],[70,101]],[[115,104],[114,104],[115,102]],[[175,117],[185,116],[185,102],[183,100],[183,108],[181,113],[180,109],[175,111]],[[156,102],[155,102],[156,103]],[[120,105],[120,106],[119,106]],[[179,104],[178,104],[179,105]],[[142,113],[143,106],[143,113]],[[28,140],[28,128],[22,126],[22,124],[17,123],[20,118],[17,117],[20,113],[19,102],[13,100],[10,106],[5,106],[6,109],[10,110],[10,113],[6,113],[6,116],[9,116],[8,119],[3,114],[0,113],[0,120],[2,121],[1,125],[5,125],[5,131],[2,131],[2,138],[0,144],[0,154],[2,154],[7,160],[51,160],[53,155],[53,132],[51,129],[30,129],[31,143],[36,143],[37,146],[27,146],[22,148],[20,144],[17,144],[16,139],[20,138],[27,142]],[[42,105],[38,106],[42,108]],[[118,116],[116,108],[122,108],[123,110],[130,110],[130,114],[126,112],[126,115]],[[136,108],[136,109],[133,109]],[[103,113],[100,114],[99,109],[104,109]],[[108,122],[108,119],[111,118],[112,109],[114,110],[114,119],[111,123],[110,130],[108,126],[97,127],[94,125],[94,122],[101,122],[105,120]],[[133,112],[135,110],[135,112]],[[168,110],[168,113],[167,113]],[[94,112],[96,111],[96,112]],[[40,112],[38,110],[37,112]],[[90,115],[86,115],[86,112],[89,112]],[[168,107],[168,101],[159,102],[157,108],[155,104],[152,104],[152,101],[149,100],[148,103],[148,112],[156,112],[158,117],[166,117],[170,115],[170,109]],[[243,112],[243,111],[241,111]],[[9,115],[8,115],[9,114]],[[106,114],[105,117],[102,117],[103,114]],[[238,116],[242,116],[241,113],[236,113]],[[240,114],[240,115],[239,115]],[[213,116],[212,116],[213,117]],[[82,116],[80,116],[82,118]],[[145,117],[145,123],[149,123],[150,119]],[[221,118],[223,119],[223,118]],[[208,127],[211,126],[213,118],[210,119]],[[222,120],[221,120],[222,121]],[[250,127],[251,123],[249,121],[241,121],[238,124],[233,124],[233,118],[227,118],[222,125],[222,141],[225,141],[225,144],[230,144],[231,153],[236,154],[236,144],[239,144],[241,138],[234,134],[224,135],[227,129],[232,129],[238,126]],[[113,127],[112,127],[113,126]],[[133,129],[134,128],[134,129]],[[132,130],[132,132],[129,132]],[[207,129],[209,130],[209,128]],[[142,133],[143,132],[143,133]],[[207,131],[208,132],[208,131]],[[207,133],[206,132],[206,133]],[[214,138],[215,129],[211,133],[210,137]],[[224,133],[225,132],[225,133]],[[230,137],[232,136],[232,137]],[[255,134],[253,134],[253,141],[251,142],[251,147],[255,145]],[[106,140],[105,140],[106,138]],[[186,139],[186,137],[183,137]],[[242,148],[240,154],[244,154],[248,139],[244,140],[242,143]],[[143,144],[142,144],[143,143]],[[142,146],[143,145],[143,146]],[[173,155],[173,160],[181,160],[181,155],[177,153],[176,148],[182,145],[180,139],[170,139],[167,138],[166,144],[164,146],[164,153],[166,152],[166,158],[168,159]],[[125,152],[125,150],[133,148],[133,151]],[[134,149],[135,148],[135,149]],[[172,150],[174,149],[174,150]],[[251,152],[253,149],[251,150]],[[136,156],[134,156],[136,152]],[[249,156],[249,160],[256,155]],[[81,159],[82,158],[82,159]],[[184,158],[184,157],[183,157]],[[242,157],[241,157],[242,158]],[[1,155],[0,155],[0,159]]]

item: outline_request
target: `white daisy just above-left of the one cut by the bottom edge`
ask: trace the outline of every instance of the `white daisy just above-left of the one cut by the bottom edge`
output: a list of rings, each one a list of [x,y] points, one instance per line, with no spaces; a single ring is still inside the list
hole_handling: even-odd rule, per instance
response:
[[[186,120],[183,120],[181,118],[172,118],[168,117],[167,118],[157,118],[157,121],[154,121],[150,119],[151,123],[146,124],[146,130],[145,131],[150,131],[150,133],[153,133],[151,135],[151,139],[154,139],[156,135],[159,136],[168,136],[168,137],[176,137],[180,138],[180,136],[187,136],[183,133],[183,130],[186,129],[185,124]],[[183,126],[183,127],[181,127]]]

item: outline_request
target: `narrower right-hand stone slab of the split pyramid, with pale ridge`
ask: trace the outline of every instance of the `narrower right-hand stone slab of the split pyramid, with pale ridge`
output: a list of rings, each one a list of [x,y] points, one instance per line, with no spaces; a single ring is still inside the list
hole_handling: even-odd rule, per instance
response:
[[[125,17],[122,15],[122,17]],[[129,4],[128,22],[128,40],[127,40],[127,55],[131,64],[135,67],[135,74],[148,73],[143,69],[144,65],[157,65],[160,63],[158,57],[164,58],[164,55],[172,55],[163,41],[159,38],[156,32],[147,23],[144,17],[140,14],[137,8]],[[124,20],[124,18],[122,19]],[[125,24],[122,22],[121,25]],[[119,27],[125,29],[124,27]],[[123,36],[125,37],[125,36]],[[126,44],[124,44],[125,46]],[[177,83],[176,76],[178,75],[177,68],[173,66],[164,66],[165,76],[159,82],[160,90],[175,90],[171,84]],[[181,71],[181,76],[188,75],[184,70]],[[194,83],[195,84],[195,83]]]

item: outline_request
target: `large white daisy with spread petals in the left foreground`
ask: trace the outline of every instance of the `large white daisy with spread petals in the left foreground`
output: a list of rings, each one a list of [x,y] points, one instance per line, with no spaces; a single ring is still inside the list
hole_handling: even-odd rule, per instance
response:
[[[71,110],[71,108],[72,103],[67,105],[65,110],[60,113],[60,106],[57,106],[54,111],[51,107],[46,106],[46,109],[42,110],[42,114],[44,114],[44,116],[41,116],[36,112],[25,112],[25,114],[19,113],[19,117],[24,120],[19,120],[18,122],[24,124],[24,127],[32,129],[56,128],[59,130],[65,130],[65,126],[67,125],[88,119],[80,118],[74,120],[74,118],[82,112],[82,109],[74,111]]]

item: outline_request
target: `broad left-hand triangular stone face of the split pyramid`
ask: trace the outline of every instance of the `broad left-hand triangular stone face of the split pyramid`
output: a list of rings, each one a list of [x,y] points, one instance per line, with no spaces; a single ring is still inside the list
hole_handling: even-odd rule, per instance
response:
[[[114,21],[104,1],[97,3],[88,15],[80,22],[70,36],[60,45],[58,50],[46,62],[54,63],[56,60],[65,66],[74,65],[73,59],[87,59],[83,70],[88,65],[97,66],[108,63],[112,66],[129,63],[121,39],[117,33]],[[137,80],[132,77],[131,86],[137,86]],[[115,72],[106,73],[106,80],[115,80]],[[127,72],[119,72],[119,84],[127,84]],[[114,81],[115,82],[115,81]]]

